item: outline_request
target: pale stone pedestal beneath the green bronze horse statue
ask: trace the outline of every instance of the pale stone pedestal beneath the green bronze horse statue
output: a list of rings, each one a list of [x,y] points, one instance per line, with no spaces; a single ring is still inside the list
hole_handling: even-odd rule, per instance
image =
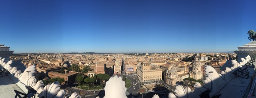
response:
[[[256,41],[251,41],[237,48],[238,50],[234,50],[234,52],[237,54],[238,62],[241,62],[241,58],[245,58],[247,55],[256,57]]]

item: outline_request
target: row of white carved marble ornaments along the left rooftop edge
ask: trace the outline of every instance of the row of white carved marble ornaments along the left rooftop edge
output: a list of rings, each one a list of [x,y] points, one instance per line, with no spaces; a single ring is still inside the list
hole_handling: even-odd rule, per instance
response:
[[[0,65],[2,66],[0,68],[5,68],[10,72],[8,75],[10,79],[12,79],[12,81],[14,81],[24,92],[27,92],[26,86],[31,86],[37,91],[37,97],[42,97],[44,94],[46,96],[46,87],[44,87],[44,83],[42,80],[37,82],[37,79],[34,76],[34,73],[36,72],[35,65],[26,68],[24,65],[15,65],[12,60],[9,61],[2,57],[0,57]],[[25,71],[22,73],[17,67],[23,67]],[[63,98],[64,95],[65,91],[60,90],[59,82],[56,81],[51,85],[47,85],[48,98]]]

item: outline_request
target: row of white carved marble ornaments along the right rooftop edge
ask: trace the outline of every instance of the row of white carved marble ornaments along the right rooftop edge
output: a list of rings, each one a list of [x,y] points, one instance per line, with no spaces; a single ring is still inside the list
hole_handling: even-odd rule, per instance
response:
[[[233,74],[233,71],[235,69],[244,67],[242,65],[246,64],[249,60],[251,60],[251,57],[248,55],[245,57],[245,59],[241,58],[241,60],[242,61],[240,63],[235,60],[231,60],[233,66],[231,68],[226,67],[226,71],[222,71],[221,74],[217,73],[216,70],[211,66],[205,66],[205,73],[207,77],[203,81],[204,86],[202,87],[199,82],[196,82],[194,84],[195,90],[193,91],[193,93],[191,93],[190,88],[188,88],[188,98],[199,98],[199,95],[207,89],[211,90],[211,92],[209,93],[210,97],[218,93],[220,89],[222,89],[231,79],[234,78],[235,75]],[[178,85],[175,88],[175,94],[169,93],[168,97],[187,98],[187,88],[183,88],[182,86]]]

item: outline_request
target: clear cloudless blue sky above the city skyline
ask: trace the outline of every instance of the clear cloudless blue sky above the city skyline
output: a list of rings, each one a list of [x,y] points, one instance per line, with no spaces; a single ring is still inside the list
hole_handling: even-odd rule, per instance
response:
[[[1,0],[14,53],[227,52],[250,42],[255,0]]]

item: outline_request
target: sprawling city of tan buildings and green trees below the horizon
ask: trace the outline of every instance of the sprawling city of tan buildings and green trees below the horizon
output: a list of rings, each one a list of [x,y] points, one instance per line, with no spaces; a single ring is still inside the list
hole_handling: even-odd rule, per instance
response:
[[[207,75],[207,67],[213,68],[212,70],[217,74],[223,74],[223,71],[227,71],[227,67],[232,68],[232,65],[236,64],[232,60],[237,62],[249,58],[246,56],[246,59],[238,59],[238,57],[244,56],[244,53],[241,54],[241,51],[244,52],[244,50],[240,48],[249,49],[255,43],[248,43],[250,46],[238,47],[235,53],[37,52],[15,54],[13,54],[13,50],[9,49],[10,47],[0,44],[0,64],[3,65],[1,75],[2,77],[8,74],[10,76],[11,73],[11,75],[15,76],[17,73],[18,78],[19,72],[17,70],[31,72],[26,70],[27,68],[33,68],[34,73],[31,76],[33,76],[34,80],[41,80],[43,85],[45,83],[48,85],[58,84],[57,87],[59,87],[59,90],[63,90],[62,97],[65,98],[103,98],[107,96],[104,93],[107,93],[107,91],[104,90],[112,91],[109,88],[104,88],[111,77],[120,77],[120,80],[125,82],[124,86],[127,88],[125,97],[127,98],[141,98],[143,96],[146,98],[176,98],[180,96],[170,97],[170,94],[178,92],[176,91],[176,86],[188,87],[194,92],[196,92],[197,83],[207,87],[205,83],[205,80],[209,77]],[[246,64],[240,64],[255,67],[251,60]],[[238,65],[234,66],[238,67]],[[252,71],[254,70],[252,69]],[[233,74],[233,76],[235,75]],[[246,78],[247,75],[243,73],[243,75],[237,76]],[[45,78],[48,80],[45,80]],[[56,81],[57,83],[55,83]],[[190,81],[189,85],[185,83],[186,81]],[[37,83],[32,81],[30,84],[29,82],[29,86],[36,89],[37,87],[34,86],[37,86]],[[19,84],[17,85],[19,86]],[[115,85],[114,83],[112,86]],[[14,93],[13,91],[11,92]],[[23,92],[25,93],[26,91]],[[40,94],[36,95],[39,98],[44,97]],[[156,95],[157,97],[155,97]],[[199,94],[197,96],[199,97]],[[57,97],[57,95],[48,95],[47,97]],[[192,97],[196,96],[193,95]],[[203,96],[203,98],[205,97],[207,96]]]

